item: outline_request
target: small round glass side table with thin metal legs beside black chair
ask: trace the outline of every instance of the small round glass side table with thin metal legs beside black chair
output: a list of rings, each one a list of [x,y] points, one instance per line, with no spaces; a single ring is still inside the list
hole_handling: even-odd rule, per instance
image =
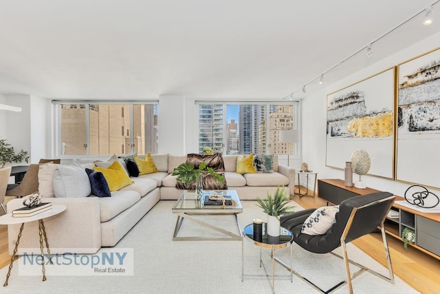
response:
[[[241,240],[241,282],[244,280],[245,276],[245,266],[244,266],[244,239],[250,240],[255,246],[260,247],[260,267],[263,262],[261,260],[261,249],[267,248],[272,249],[272,291],[275,293],[275,249],[285,248],[292,244],[294,236],[292,232],[288,229],[281,227],[280,235],[278,237],[272,237],[267,235],[267,223],[263,222],[263,233],[261,235],[254,235],[254,224],[248,224],[245,229],[243,229],[243,238]],[[293,282],[293,246],[290,246],[290,282]]]

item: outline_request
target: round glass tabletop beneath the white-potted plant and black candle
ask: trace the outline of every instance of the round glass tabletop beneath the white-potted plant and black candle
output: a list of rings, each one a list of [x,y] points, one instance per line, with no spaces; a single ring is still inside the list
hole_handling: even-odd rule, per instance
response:
[[[253,241],[255,245],[266,248],[272,248],[272,246],[274,248],[284,248],[294,240],[292,232],[285,227],[280,228],[280,235],[277,237],[267,235],[266,227],[267,223],[263,222],[263,233],[261,235],[254,235],[254,224],[248,224],[245,229],[243,229],[243,233],[245,238]]]

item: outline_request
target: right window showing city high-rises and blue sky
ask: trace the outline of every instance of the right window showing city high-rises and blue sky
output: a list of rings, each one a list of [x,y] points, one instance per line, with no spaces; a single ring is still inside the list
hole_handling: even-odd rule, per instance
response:
[[[279,132],[298,129],[298,103],[198,103],[199,152],[222,154],[293,154],[298,143],[279,141]]]

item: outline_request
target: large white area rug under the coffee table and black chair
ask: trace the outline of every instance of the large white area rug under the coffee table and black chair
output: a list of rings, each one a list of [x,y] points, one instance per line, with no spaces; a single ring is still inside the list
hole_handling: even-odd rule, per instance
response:
[[[19,275],[14,263],[9,285],[1,293],[272,293],[272,259],[270,250],[263,249],[263,266],[259,266],[260,249],[244,240],[244,269],[242,282],[242,242],[240,241],[173,241],[177,216],[171,213],[175,201],[160,201],[111,250],[133,251],[133,274],[86,275],[85,272],[57,275],[56,269],[46,266],[47,280],[41,275]],[[243,201],[239,214],[241,230],[253,218],[265,219],[255,201]],[[295,202],[296,210],[302,209]],[[238,233],[234,216],[208,216],[207,222]],[[220,237],[199,224],[184,221],[179,235]],[[50,236],[49,236],[50,237]],[[345,279],[343,261],[331,254],[308,253],[295,244],[294,270],[316,283],[329,288]],[[347,246],[349,258],[386,275],[387,269],[352,244]],[[106,251],[109,249],[101,249]],[[99,252],[98,252],[99,253]],[[290,247],[276,250],[276,256],[289,262]],[[23,257],[21,257],[23,258]],[[275,293],[319,293],[309,284],[279,264],[276,266]],[[351,271],[356,267],[351,266]],[[0,270],[4,278],[8,267]],[[267,271],[267,273],[266,273]],[[41,273],[41,271],[40,271]],[[59,274],[59,272],[58,272]],[[268,274],[268,275],[267,275]],[[3,282],[3,280],[1,280]],[[355,293],[418,293],[395,277],[395,284],[386,282],[371,273],[362,273],[353,280]],[[335,293],[349,293],[347,285]]]

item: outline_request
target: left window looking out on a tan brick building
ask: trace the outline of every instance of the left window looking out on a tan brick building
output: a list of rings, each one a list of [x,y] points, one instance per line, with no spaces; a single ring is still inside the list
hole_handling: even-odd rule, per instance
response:
[[[157,104],[62,102],[60,155],[157,154]]]

